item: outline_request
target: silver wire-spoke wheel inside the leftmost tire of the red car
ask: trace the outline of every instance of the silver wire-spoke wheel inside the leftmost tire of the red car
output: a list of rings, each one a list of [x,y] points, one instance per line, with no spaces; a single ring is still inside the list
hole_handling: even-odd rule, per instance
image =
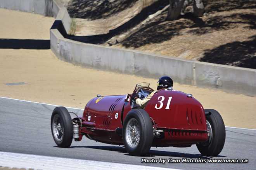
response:
[[[54,133],[54,138],[60,142],[62,141],[62,137],[64,134],[64,128],[63,123],[61,121],[61,117],[58,114],[54,115],[53,121],[52,121],[52,130]]]

